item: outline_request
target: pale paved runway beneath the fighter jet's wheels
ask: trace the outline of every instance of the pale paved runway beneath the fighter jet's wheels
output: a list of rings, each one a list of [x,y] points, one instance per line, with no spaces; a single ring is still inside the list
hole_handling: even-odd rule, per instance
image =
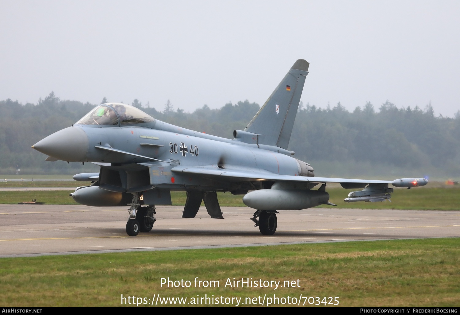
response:
[[[150,233],[129,237],[127,207],[0,205],[0,257],[113,251],[152,251],[371,239],[460,237],[460,211],[307,209],[280,211],[275,235],[253,227],[253,209],[222,207],[224,220],[204,207],[158,206]]]

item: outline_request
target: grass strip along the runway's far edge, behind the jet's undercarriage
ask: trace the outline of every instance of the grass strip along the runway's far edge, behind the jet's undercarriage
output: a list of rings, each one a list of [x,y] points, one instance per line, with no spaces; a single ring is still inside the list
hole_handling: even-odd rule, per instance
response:
[[[71,183],[71,182],[70,182]],[[79,184],[85,184],[79,182]],[[75,187],[75,185],[74,185]],[[76,204],[69,191],[4,191],[0,192],[1,204],[17,204],[22,201],[37,199],[46,204]],[[395,188],[393,202],[355,202],[345,203],[343,199],[351,190],[330,187],[328,192],[329,201],[338,205],[339,208],[353,209],[400,209],[400,210],[459,210],[460,209],[460,187],[416,187],[410,190]],[[184,205],[186,200],[185,192],[171,192],[173,205]],[[219,204],[221,206],[244,207],[242,196],[235,196],[229,192],[218,192]],[[202,204],[204,205],[204,204]],[[321,208],[332,208],[333,206],[321,205]]]

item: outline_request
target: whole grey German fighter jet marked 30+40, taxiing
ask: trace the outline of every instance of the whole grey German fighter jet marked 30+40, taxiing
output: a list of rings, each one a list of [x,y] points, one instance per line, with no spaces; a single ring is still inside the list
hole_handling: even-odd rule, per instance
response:
[[[251,220],[264,235],[276,231],[280,210],[302,210],[329,202],[327,183],[350,192],[346,202],[383,201],[395,187],[424,186],[424,178],[394,181],[316,177],[309,163],[293,157],[288,144],[309,63],[297,60],[244,130],[233,139],[174,126],[136,107],[98,105],[72,127],[32,148],[48,161],[92,162],[99,173],[74,176],[93,181],[70,195],[89,206],[126,206],[128,235],[149,232],[155,205],[171,204],[171,191],[185,191],[182,217],[193,218],[204,201],[212,218],[223,219],[216,192],[243,195]],[[319,185],[319,188],[313,189]]]

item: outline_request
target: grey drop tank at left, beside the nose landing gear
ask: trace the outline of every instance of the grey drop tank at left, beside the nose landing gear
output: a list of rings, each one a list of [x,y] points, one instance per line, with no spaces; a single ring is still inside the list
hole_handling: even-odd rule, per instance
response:
[[[127,192],[109,192],[99,186],[87,186],[77,189],[70,196],[79,204],[92,207],[126,206],[132,201],[132,194]]]

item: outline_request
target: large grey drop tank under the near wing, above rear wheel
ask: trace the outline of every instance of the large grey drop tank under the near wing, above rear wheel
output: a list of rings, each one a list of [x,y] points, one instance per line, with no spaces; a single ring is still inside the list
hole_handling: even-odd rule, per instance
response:
[[[243,197],[244,204],[259,210],[301,210],[328,201],[329,194],[318,190],[260,189]]]

